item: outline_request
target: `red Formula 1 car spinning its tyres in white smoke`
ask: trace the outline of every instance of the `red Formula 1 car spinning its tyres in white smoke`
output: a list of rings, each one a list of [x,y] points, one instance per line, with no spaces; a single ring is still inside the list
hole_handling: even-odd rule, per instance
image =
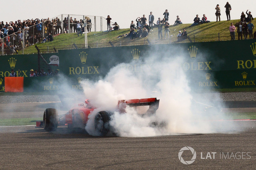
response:
[[[58,126],[68,125],[68,128],[83,128],[88,121],[88,115],[95,109],[87,99],[85,100],[86,106],[83,103],[77,107],[71,108],[66,114],[58,115],[57,109],[47,108],[44,111],[43,121],[36,121],[36,127],[44,127],[46,131],[54,131]],[[120,114],[125,113],[125,107],[140,107],[149,106],[146,113],[142,114],[155,114],[159,106],[159,100],[156,98],[147,99],[132,99],[132,100],[118,100],[116,111]],[[113,112],[100,111],[95,115],[94,127],[95,131],[101,136],[105,136],[111,129],[109,121]]]

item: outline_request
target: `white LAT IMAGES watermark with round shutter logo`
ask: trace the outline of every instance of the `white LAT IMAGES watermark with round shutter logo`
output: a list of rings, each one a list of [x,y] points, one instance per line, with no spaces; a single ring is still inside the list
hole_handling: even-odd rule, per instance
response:
[[[184,151],[187,151],[186,160],[182,158],[182,154]],[[189,152],[188,152],[189,151]],[[191,153],[192,155],[191,155]],[[185,153],[185,152],[184,152]],[[188,159],[188,153],[189,158]],[[200,159],[251,159],[251,152],[201,152]],[[188,160],[187,160],[188,159]],[[192,164],[196,160],[196,151],[189,147],[185,146],[179,151],[179,160],[181,163],[185,165]]]

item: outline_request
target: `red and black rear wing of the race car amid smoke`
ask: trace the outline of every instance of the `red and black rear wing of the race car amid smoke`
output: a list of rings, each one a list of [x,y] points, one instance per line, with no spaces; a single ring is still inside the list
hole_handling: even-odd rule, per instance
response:
[[[124,112],[126,105],[130,107],[137,106],[149,106],[147,113],[155,114],[159,107],[159,99],[147,98],[147,99],[131,99],[131,100],[118,100],[118,108],[121,112]]]

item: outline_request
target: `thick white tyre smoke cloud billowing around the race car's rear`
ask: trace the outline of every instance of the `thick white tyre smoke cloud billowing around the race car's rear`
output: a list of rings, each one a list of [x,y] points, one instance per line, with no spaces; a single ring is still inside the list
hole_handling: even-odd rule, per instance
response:
[[[216,131],[211,123],[204,121],[207,115],[202,116],[200,109],[192,108],[193,96],[180,67],[182,63],[182,58],[153,56],[145,63],[119,64],[98,82],[83,82],[85,96],[99,107],[89,116],[85,127],[87,132],[98,135],[94,132],[94,116],[98,111],[114,112],[118,100],[150,97],[160,99],[155,115],[142,117],[132,107],[126,107],[126,113],[114,112],[110,125],[117,136],[148,137]],[[137,70],[134,70],[135,64]]]

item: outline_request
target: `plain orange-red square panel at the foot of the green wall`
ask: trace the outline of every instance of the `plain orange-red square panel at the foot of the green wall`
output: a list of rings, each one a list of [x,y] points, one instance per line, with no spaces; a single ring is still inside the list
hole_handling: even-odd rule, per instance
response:
[[[23,77],[4,77],[5,92],[23,92]]]

